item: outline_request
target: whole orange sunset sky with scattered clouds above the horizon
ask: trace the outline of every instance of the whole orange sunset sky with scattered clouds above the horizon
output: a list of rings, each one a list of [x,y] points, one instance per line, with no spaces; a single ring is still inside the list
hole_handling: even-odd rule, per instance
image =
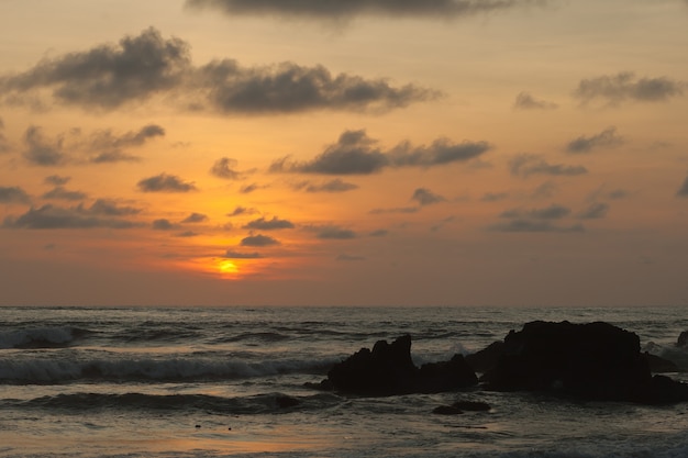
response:
[[[2,0],[0,305],[688,305],[686,0]]]

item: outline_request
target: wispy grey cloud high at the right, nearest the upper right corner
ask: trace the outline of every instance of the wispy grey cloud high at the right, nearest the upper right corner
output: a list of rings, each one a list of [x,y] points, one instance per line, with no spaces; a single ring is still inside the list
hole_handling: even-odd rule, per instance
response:
[[[574,97],[586,104],[601,100],[609,105],[625,101],[663,102],[673,97],[683,96],[686,83],[667,77],[636,78],[633,72],[604,75],[584,79],[574,91]]]

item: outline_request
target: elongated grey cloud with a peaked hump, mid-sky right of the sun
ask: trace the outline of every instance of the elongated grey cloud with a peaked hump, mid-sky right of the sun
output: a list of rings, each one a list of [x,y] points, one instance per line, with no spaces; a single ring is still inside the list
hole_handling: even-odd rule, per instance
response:
[[[404,142],[385,152],[365,130],[345,131],[337,142],[314,159],[306,163],[282,158],[274,161],[270,171],[322,175],[369,175],[386,167],[431,167],[476,158],[491,148],[487,142],[451,143],[440,138],[431,146],[414,147]]]

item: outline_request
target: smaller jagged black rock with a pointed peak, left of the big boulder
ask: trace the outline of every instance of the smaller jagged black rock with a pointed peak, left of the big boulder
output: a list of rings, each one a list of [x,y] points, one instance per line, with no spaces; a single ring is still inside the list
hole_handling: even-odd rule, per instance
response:
[[[321,386],[352,394],[392,395],[452,391],[477,381],[462,355],[419,369],[411,359],[411,336],[406,335],[391,344],[379,340],[373,350],[362,348],[332,367]]]

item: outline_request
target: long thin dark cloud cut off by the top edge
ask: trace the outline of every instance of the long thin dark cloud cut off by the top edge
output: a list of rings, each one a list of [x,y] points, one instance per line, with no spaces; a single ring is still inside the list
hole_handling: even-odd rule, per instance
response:
[[[362,15],[393,18],[459,18],[531,4],[530,0],[187,0],[192,9],[214,9],[229,15],[279,15],[349,20]]]

